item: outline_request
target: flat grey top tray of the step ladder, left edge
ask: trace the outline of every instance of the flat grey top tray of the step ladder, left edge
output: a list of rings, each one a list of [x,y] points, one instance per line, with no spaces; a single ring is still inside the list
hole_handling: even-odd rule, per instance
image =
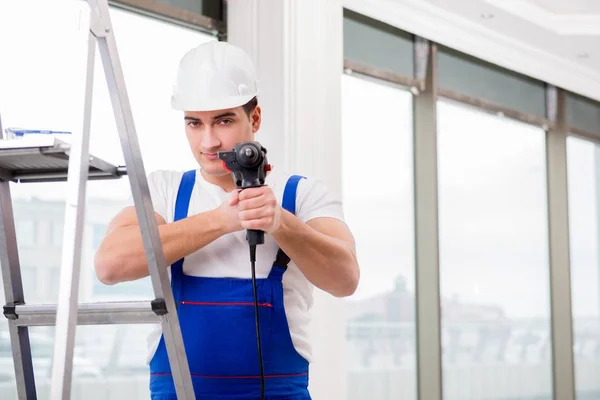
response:
[[[53,136],[0,140],[0,179],[12,182],[64,182],[71,145]],[[90,155],[88,179],[118,179],[127,175],[116,166]]]

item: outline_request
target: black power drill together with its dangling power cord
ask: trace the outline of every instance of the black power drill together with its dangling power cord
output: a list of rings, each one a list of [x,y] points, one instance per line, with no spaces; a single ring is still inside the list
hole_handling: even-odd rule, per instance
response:
[[[231,172],[233,181],[238,189],[260,187],[265,185],[267,172],[271,165],[267,162],[267,149],[258,142],[241,142],[233,150],[217,153],[223,161],[223,168]],[[256,322],[256,343],[260,368],[260,399],[265,398],[265,372],[260,340],[260,321],[258,317],[258,297],[256,289],[256,245],[265,242],[265,233],[260,230],[248,229],[246,240],[250,246],[250,263],[252,268],[252,291],[254,294],[254,316]]]

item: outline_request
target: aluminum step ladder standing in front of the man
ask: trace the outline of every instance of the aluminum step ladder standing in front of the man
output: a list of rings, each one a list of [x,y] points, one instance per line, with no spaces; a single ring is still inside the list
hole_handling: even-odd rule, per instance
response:
[[[195,399],[177,309],[171,291],[158,226],[152,209],[146,172],[125,87],[107,0],[88,0],[88,34],[85,107],[81,135],[72,143],[52,136],[0,140],[0,266],[6,296],[18,398],[37,399],[29,326],[56,326],[52,366],[52,400],[71,396],[73,351],[77,325],[161,323],[178,399]],[[98,44],[110,92],[125,166],[90,156],[94,58]],[[2,124],[0,121],[0,132]],[[140,221],[144,249],[154,289],[147,302],[80,304],[78,298],[86,182],[119,179],[127,175]],[[19,265],[10,183],[67,181],[59,299],[56,305],[27,304]]]

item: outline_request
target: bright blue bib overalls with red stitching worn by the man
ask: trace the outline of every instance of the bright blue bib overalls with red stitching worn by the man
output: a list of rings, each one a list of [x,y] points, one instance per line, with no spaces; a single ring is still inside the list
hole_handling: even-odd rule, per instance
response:
[[[187,217],[195,179],[194,170],[182,177],[175,221]],[[290,177],[283,194],[282,207],[294,214],[300,179]],[[310,400],[308,362],[294,348],[284,310],[282,278],[289,261],[280,249],[269,276],[256,279],[265,400]],[[171,287],[196,398],[260,399],[252,280],[185,275],[182,259],[171,266]],[[150,392],[153,400],[177,399],[164,337],[150,361]]]

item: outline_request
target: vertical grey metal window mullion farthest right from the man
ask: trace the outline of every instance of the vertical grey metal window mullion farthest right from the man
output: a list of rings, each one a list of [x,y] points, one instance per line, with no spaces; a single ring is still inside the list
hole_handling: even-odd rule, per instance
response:
[[[575,399],[565,92],[556,92],[556,123],[546,133],[550,303],[554,399]]]

